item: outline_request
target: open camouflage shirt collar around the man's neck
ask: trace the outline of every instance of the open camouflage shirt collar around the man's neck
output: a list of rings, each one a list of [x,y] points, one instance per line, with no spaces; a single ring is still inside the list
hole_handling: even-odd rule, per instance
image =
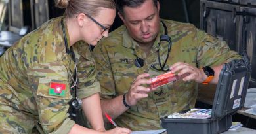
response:
[[[156,40],[152,46],[153,52],[156,52],[160,48],[160,46],[158,46],[158,42],[160,42],[160,36],[165,34],[165,30],[164,30],[163,24],[161,22],[160,22],[160,33],[158,33],[158,35],[156,36]],[[139,46],[137,41],[135,41],[129,35],[127,28],[125,28],[125,31],[123,31],[123,46],[125,48],[130,48],[130,49],[134,49],[134,50],[136,50],[137,46]]]

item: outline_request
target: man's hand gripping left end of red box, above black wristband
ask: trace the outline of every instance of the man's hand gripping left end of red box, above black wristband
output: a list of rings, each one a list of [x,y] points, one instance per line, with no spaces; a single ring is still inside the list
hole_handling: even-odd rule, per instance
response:
[[[148,79],[149,76],[150,75],[148,73],[144,73],[137,76],[137,78],[133,80],[133,84],[131,84],[131,88],[125,96],[125,101],[128,105],[136,105],[137,101],[148,97],[148,92],[152,90],[150,90],[149,86],[146,88],[142,86],[142,84],[151,84],[152,81]]]

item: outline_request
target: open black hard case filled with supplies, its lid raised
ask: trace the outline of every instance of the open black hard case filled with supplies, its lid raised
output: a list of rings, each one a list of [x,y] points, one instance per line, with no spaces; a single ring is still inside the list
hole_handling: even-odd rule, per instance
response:
[[[242,59],[224,64],[215,92],[212,117],[209,119],[161,118],[161,125],[167,129],[168,134],[221,133],[232,126],[232,114],[244,106],[251,75],[249,59],[247,54],[244,55]]]

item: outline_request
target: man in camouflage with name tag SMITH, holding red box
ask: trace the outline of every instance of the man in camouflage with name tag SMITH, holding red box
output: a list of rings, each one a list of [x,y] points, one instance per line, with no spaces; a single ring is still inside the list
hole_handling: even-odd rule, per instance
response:
[[[223,63],[240,58],[225,42],[194,25],[160,19],[157,0],[116,3],[125,25],[102,39],[93,53],[102,110],[116,118],[118,126],[133,131],[160,129],[161,117],[194,107],[197,83],[217,84]],[[148,88],[149,77],[168,69],[181,79]]]

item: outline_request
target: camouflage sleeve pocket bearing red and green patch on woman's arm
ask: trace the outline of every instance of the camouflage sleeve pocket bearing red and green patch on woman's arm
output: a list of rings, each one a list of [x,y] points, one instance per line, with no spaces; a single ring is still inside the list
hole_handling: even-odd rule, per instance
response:
[[[62,87],[59,88],[58,86]],[[64,86],[66,86],[65,89],[63,88]],[[49,92],[50,88],[57,89],[59,93],[54,95],[54,93]],[[64,90],[64,93],[62,90]],[[72,95],[70,94],[68,82],[41,78],[37,88],[36,101],[42,127],[48,129],[53,124],[63,122],[67,116],[70,99],[72,99]]]

